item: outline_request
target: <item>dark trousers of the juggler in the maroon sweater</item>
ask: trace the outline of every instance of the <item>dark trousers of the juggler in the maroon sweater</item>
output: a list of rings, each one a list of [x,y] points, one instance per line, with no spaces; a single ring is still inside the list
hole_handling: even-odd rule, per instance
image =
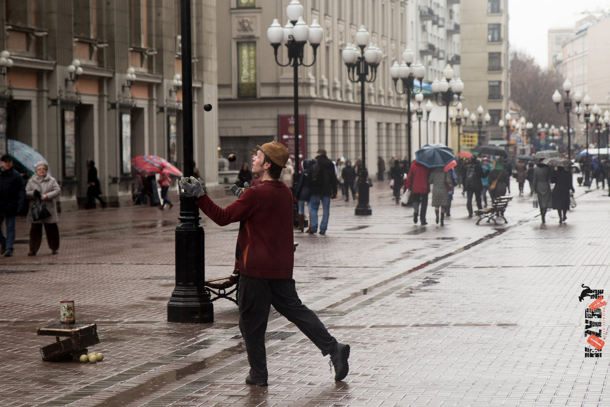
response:
[[[237,298],[239,330],[246,342],[250,378],[253,380],[267,381],[265,331],[271,305],[314,342],[322,355],[328,355],[337,344],[337,340],[328,333],[314,311],[301,303],[293,279],[242,275],[239,277]]]

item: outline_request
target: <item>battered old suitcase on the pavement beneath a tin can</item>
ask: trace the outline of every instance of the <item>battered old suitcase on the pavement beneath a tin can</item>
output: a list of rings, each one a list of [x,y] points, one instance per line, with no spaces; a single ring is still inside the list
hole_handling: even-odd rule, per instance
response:
[[[77,361],[79,356],[87,353],[88,346],[99,344],[97,326],[90,322],[56,322],[38,328],[37,333],[54,336],[56,339],[53,344],[40,348],[40,355],[45,362],[60,359]],[[67,336],[68,339],[60,340],[60,336]]]

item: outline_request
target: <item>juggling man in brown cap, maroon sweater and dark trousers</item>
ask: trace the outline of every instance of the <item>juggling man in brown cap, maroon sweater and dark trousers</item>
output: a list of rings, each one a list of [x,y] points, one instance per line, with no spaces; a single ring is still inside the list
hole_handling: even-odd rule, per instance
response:
[[[292,192],[279,181],[288,149],[278,142],[257,146],[252,172],[262,184],[236,189],[239,199],[221,208],[204,193],[193,176],[180,179],[180,187],[198,198],[197,206],[220,226],[240,222],[235,268],[240,272],[237,294],[239,328],[250,364],[246,384],[267,386],[265,330],[270,306],[294,323],[320,349],[331,355],[335,381],[348,373],[350,345],[339,344],[317,315],[301,303],[292,278],[294,240]]]

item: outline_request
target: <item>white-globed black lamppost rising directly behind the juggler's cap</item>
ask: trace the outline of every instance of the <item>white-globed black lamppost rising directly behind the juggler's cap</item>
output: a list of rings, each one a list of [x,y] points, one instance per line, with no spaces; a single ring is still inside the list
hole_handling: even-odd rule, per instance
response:
[[[311,26],[307,26],[303,21],[303,5],[298,0],[292,0],[289,5],[286,6],[286,15],[288,16],[289,22],[282,28],[279,24],[278,19],[274,18],[273,23],[267,29],[267,38],[273,46],[273,53],[275,56],[275,62],[280,67],[292,67],[293,68],[293,84],[294,84],[294,106],[295,106],[295,184],[298,182],[298,176],[300,173],[300,151],[299,151],[299,90],[298,90],[298,78],[299,78],[299,66],[311,67],[315,63],[316,51],[324,31],[318,20],[312,22]],[[303,63],[305,45],[309,40],[309,44],[314,51],[314,60],[307,64]],[[278,48],[280,45],[286,46],[288,51],[288,62],[281,63],[278,60]]]

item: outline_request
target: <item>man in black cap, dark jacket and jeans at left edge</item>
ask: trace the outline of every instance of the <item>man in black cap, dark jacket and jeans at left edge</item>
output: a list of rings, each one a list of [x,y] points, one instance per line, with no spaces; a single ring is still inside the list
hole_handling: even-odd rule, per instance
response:
[[[4,154],[0,161],[0,254],[10,257],[15,243],[15,217],[26,203],[26,189],[21,174],[13,169],[13,158]],[[4,220],[6,237],[2,234]]]

